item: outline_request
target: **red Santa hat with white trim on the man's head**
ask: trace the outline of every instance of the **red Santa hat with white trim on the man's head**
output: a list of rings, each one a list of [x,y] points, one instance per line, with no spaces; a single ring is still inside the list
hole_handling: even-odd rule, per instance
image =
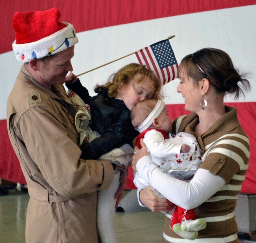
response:
[[[60,11],[15,12],[12,49],[18,61],[28,62],[64,51],[78,43],[72,24],[59,22]]]

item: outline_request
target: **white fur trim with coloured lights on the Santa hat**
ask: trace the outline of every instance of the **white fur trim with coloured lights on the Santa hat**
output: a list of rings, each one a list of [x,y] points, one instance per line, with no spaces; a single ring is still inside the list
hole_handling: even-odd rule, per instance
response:
[[[16,44],[15,40],[12,43],[12,49],[16,59],[20,62],[28,62],[35,58],[40,59],[64,51],[78,43],[74,26],[67,22],[62,23],[67,27],[35,42]]]

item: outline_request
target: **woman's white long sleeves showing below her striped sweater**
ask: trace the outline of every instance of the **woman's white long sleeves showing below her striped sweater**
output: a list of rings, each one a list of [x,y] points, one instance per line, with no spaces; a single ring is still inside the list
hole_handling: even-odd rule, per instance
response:
[[[211,174],[206,169],[198,169],[190,182],[178,180],[161,171],[150,156],[141,158],[136,169],[140,177],[165,198],[185,209],[196,208],[225,185],[225,181],[221,177]],[[139,192],[140,190],[138,190],[138,198]],[[140,200],[139,202],[141,206],[144,206]]]

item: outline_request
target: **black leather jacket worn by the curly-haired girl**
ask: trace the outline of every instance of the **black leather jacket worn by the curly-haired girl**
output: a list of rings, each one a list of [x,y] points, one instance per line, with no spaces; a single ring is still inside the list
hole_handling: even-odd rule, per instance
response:
[[[72,84],[66,84],[67,88],[74,91],[85,104],[90,105],[93,131],[101,136],[91,143],[83,142],[80,146],[83,159],[98,159],[113,148],[121,147],[128,143],[132,146],[133,139],[139,135],[131,123],[131,111],[126,107],[123,100],[110,98],[108,89],[98,87],[96,96],[91,97],[88,90],[83,87],[78,79]]]

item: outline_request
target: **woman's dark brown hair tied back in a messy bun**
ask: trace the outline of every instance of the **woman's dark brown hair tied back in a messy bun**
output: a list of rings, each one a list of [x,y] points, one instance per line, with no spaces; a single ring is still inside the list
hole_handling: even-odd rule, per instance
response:
[[[220,49],[203,48],[187,55],[180,63],[178,77],[182,76],[181,70],[196,83],[207,78],[217,93],[234,95],[236,100],[251,89],[245,78],[248,73],[239,73],[230,56]]]

